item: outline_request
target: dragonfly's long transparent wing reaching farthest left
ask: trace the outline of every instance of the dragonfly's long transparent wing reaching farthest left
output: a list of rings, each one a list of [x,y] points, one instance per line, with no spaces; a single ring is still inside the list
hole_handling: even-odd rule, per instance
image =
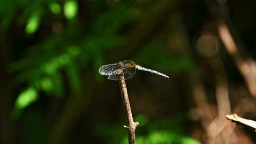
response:
[[[118,63],[103,65],[99,69],[101,75],[111,75],[117,70],[121,69],[121,66]]]

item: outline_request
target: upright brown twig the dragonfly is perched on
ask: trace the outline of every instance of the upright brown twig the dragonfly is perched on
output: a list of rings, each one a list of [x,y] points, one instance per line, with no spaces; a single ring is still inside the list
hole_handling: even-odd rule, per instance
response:
[[[128,92],[125,84],[125,78],[123,74],[120,74],[119,76],[120,81],[119,82],[119,88],[121,91],[121,96],[123,100],[123,105],[126,113],[126,120],[128,123],[128,126],[124,126],[128,130],[128,136],[129,136],[129,144],[135,144],[135,130],[138,126],[138,122],[134,122],[132,118],[132,112],[130,107],[130,102],[128,99]]]

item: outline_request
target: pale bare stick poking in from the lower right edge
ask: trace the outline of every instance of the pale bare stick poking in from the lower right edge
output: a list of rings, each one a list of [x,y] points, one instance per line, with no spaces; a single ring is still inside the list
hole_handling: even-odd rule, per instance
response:
[[[226,117],[229,120],[233,120],[235,122],[239,122],[239,123],[242,123],[244,125],[247,125],[247,126],[250,126],[250,127],[254,128],[254,129],[256,129],[256,121],[245,119],[245,118],[242,118],[242,117],[238,117],[237,114],[226,115]]]

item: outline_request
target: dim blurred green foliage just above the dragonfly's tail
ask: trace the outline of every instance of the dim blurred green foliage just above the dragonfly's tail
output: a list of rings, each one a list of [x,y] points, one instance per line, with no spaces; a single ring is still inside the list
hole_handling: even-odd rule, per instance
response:
[[[159,39],[153,40],[137,54],[135,61],[163,72],[193,72],[196,69],[196,66],[188,56],[172,57],[164,50],[166,49],[165,47],[166,45],[163,41]]]

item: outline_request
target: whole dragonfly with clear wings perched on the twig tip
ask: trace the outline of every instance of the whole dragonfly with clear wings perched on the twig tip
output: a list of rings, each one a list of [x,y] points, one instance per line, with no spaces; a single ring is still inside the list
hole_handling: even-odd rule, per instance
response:
[[[157,72],[157,71],[154,71],[151,69],[147,69],[143,66],[140,66],[140,65],[134,63],[132,60],[125,60],[125,61],[121,61],[118,63],[103,65],[100,67],[99,73],[101,75],[108,75],[109,80],[118,81],[119,75],[121,74],[121,72],[123,72],[125,80],[128,80],[128,79],[131,79],[135,75],[136,70],[152,72],[154,74],[163,76],[167,79],[169,78],[164,73]]]

